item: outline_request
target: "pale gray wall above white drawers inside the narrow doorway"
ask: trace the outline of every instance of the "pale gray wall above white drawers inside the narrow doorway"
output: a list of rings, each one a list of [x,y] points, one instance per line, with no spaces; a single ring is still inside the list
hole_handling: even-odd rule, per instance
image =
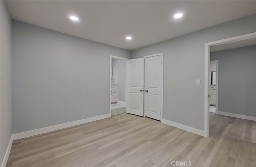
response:
[[[118,100],[125,102],[125,60],[112,59],[114,79],[111,83],[118,83]]]

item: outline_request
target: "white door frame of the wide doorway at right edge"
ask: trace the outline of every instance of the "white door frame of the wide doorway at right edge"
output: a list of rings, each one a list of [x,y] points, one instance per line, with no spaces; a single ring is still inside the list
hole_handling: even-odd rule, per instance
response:
[[[209,137],[209,131],[210,131],[210,98],[209,96],[209,65],[210,65],[210,47],[215,45],[221,45],[225,43],[231,43],[236,41],[242,41],[246,39],[252,39],[256,38],[256,32],[248,33],[244,35],[238,35],[235,37],[230,37],[226,39],[220,39],[217,41],[212,41],[205,43],[205,65],[204,65],[204,136]]]

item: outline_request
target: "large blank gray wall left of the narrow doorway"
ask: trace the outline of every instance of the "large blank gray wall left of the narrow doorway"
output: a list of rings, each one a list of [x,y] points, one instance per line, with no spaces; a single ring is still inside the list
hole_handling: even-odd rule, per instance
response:
[[[131,51],[16,20],[12,28],[14,134],[109,113],[110,55]]]

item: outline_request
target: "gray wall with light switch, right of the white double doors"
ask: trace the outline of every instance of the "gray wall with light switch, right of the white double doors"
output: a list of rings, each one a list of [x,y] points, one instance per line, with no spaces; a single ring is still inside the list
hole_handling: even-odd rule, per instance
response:
[[[256,14],[132,51],[132,58],[164,52],[163,118],[204,130],[205,43],[255,31]]]

